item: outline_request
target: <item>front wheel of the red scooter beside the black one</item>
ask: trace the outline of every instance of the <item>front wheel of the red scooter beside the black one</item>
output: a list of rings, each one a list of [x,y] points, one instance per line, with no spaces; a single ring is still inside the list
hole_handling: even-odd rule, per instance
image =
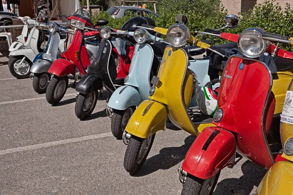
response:
[[[55,105],[61,101],[68,87],[68,77],[54,77],[50,80],[46,90],[46,100],[49,104]]]

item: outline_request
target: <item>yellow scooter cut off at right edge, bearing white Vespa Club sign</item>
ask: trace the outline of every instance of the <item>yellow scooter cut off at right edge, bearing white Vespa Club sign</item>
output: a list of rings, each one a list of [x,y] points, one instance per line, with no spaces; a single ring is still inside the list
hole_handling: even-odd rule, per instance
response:
[[[293,46],[293,38],[274,35],[279,42]],[[266,39],[266,38],[263,38]],[[273,40],[273,39],[269,39]],[[284,83],[285,84],[285,83]],[[269,169],[253,195],[293,195],[293,79],[290,82],[283,112],[280,134],[283,148],[282,158]]]

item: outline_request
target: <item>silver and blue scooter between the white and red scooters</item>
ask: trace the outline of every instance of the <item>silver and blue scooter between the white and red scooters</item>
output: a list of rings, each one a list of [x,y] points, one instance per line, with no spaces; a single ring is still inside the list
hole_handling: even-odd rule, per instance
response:
[[[51,78],[48,70],[58,58],[58,55],[65,49],[64,41],[66,39],[67,29],[56,22],[51,22],[48,25],[48,30],[50,31],[48,44],[44,52],[39,53],[35,57],[30,70],[31,78],[33,79],[33,88],[39,94],[46,92],[48,81]]]

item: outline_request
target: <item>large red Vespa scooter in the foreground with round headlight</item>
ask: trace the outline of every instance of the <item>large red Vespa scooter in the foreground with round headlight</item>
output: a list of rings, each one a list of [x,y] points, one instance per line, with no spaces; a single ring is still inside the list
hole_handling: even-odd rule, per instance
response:
[[[258,28],[240,34],[238,48],[245,57],[233,55],[227,62],[213,116],[216,126],[199,134],[179,168],[182,195],[212,194],[221,170],[237,163],[236,148],[266,169],[281,159],[280,113],[293,78],[293,54],[262,36],[273,37]],[[274,59],[258,59],[264,53]]]

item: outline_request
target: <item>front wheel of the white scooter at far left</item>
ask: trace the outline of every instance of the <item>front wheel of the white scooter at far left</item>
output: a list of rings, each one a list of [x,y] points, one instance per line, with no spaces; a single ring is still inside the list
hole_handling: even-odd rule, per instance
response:
[[[20,56],[10,56],[8,59],[9,71],[15,78],[29,77],[30,68],[32,67],[33,63],[27,58],[22,61],[22,58],[23,57]]]

